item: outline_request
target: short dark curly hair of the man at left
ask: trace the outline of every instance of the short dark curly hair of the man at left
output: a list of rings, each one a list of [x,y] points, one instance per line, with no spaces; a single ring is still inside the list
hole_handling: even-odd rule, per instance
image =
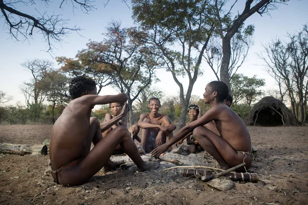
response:
[[[74,77],[69,84],[69,94],[72,99],[78,98],[86,90],[94,90],[96,83],[85,76]]]

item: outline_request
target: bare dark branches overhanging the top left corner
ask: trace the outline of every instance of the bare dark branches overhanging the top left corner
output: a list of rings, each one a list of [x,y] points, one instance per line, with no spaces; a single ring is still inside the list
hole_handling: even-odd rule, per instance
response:
[[[42,5],[46,5],[46,9],[49,4],[52,3],[49,0],[41,0]],[[79,5],[83,12],[87,13],[94,7],[91,5],[92,1],[66,1],[62,0],[60,8],[63,8],[63,4],[71,2],[73,9],[74,5]],[[35,14],[28,14],[23,12],[26,7],[34,7],[33,10],[37,12]],[[21,9],[16,9],[21,8]],[[34,33],[43,35],[48,45],[48,51],[53,49],[53,43],[60,43],[63,37],[67,36],[71,31],[80,31],[80,28],[76,26],[70,28],[67,27],[68,19],[61,18],[61,15],[48,14],[47,11],[36,10],[36,1],[34,0],[17,0],[17,1],[4,1],[0,0],[0,17],[4,19],[5,28],[9,31],[11,38],[15,40],[27,40],[31,38]],[[52,13],[52,12],[49,12]]]

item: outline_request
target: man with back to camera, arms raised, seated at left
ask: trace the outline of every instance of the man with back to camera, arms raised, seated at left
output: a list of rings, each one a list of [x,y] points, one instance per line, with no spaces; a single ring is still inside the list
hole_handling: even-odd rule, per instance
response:
[[[110,166],[109,158],[119,144],[139,171],[158,168],[159,162],[142,160],[126,127],[118,126],[105,138],[102,137],[101,130],[107,130],[127,114],[126,105],[120,115],[105,124],[100,124],[97,118],[90,117],[95,105],[115,101],[125,103],[128,99],[125,93],[99,96],[95,82],[86,77],[73,78],[69,93],[73,99],[56,120],[50,137],[51,175],[56,183],[86,183],[104,166]],[[94,148],[90,151],[92,142]]]

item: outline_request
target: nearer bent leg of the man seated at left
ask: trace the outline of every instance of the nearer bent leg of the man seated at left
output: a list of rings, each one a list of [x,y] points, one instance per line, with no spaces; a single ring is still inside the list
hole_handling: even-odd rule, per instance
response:
[[[126,127],[118,126],[105,138],[97,142],[94,148],[83,158],[78,165],[62,170],[58,173],[61,184],[81,185],[106,165],[117,145],[132,159],[139,171],[156,169],[159,162],[145,162],[140,157],[137,147],[132,141]]]

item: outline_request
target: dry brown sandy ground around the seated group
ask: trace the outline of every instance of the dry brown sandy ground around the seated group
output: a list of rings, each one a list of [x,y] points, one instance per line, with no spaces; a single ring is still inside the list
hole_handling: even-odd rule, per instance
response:
[[[42,144],[51,129],[52,125],[0,125],[0,142]],[[257,183],[236,182],[233,189],[218,191],[201,180],[183,177],[182,169],[162,172],[174,166],[171,163],[140,173],[129,160],[133,166],[127,170],[100,171],[85,185],[68,187],[53,182],[48,155],[1,154],[0,204],[307,204],[308,126],[248,129],[258,149],[250,169],[258,173]],[[217,166],[204,155],[208,156],[166,154],[185,165]]]

